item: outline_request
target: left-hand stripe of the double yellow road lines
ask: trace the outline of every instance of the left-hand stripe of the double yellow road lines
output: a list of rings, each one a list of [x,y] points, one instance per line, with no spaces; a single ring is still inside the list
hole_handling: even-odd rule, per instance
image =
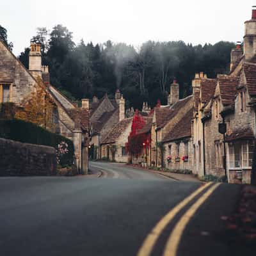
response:
[[[176,205],[168,214],[166,214],[157,225],[151,230],[150,234],[146,237],[143,242],[137,256],[149,256],[152,252],[154,245],[156,244],[157,238],[160,236],[161,232],[168,225],[170,221],[175,217],[175,215],[188,204],[196,195],[202,192],[205,188],[209,187],[212,182],[205,184],[204,186],[196,189],[191,195],[182,200],[178,205]]]

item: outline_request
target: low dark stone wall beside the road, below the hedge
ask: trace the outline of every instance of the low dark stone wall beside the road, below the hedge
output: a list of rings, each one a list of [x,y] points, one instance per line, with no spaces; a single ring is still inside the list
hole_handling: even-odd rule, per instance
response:
[[[0,138],[0,176],[55,175],[56,150]]]

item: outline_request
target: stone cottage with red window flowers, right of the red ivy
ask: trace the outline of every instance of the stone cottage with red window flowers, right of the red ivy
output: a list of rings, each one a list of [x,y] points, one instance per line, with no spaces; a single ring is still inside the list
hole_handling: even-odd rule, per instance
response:
[[[168,104],[170,105],[154,109],[151,164],[191,170],[191,115],[193,115],[191,109],[193,109],[194,95],[179,99],[179,84],[174,80],[170,86]],[[178,124],[180,133],[176,131]]]

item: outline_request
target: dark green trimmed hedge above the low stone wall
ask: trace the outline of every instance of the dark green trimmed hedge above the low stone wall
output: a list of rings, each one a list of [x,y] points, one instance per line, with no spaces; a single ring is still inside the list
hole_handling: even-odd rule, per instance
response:
[[[0,138],[54,148],[57,148],[61,141],[65,141],[68,145],[68,153],[62,157],[61,165],[65,166],[73,163],[73,141],[30,122],[19,119],[0,120]]]

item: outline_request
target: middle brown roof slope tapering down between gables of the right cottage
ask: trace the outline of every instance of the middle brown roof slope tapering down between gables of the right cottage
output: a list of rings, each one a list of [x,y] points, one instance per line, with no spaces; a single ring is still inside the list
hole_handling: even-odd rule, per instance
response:
[[[239,77],[221,76],[218,77],[218,83],[220,84],[220,95],[223,105],[232,104],[236,98]]]

